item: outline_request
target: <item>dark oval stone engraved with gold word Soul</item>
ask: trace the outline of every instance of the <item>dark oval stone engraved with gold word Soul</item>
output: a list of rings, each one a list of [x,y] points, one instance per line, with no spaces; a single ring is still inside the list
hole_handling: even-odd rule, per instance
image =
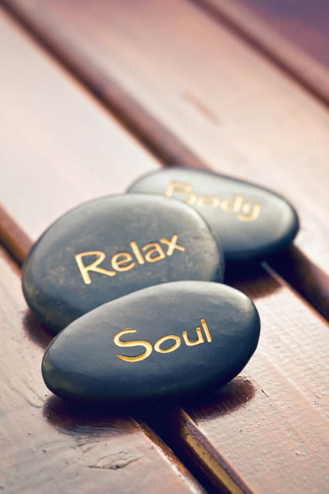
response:
[[[253,355],[259,316],[242,292],[182,281],[145,288],[94,309],[47,348],[42,375],[68,399],[116,405],[209,393]]]

